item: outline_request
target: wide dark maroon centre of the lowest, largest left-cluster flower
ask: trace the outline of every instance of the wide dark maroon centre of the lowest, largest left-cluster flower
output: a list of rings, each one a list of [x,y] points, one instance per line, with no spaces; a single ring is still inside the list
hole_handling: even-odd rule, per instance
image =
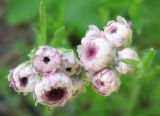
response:
[[[57,102],[62,100],[66,96],[66,89],[52,88],[50,91],[46,92],[45,96],[50,102]]]

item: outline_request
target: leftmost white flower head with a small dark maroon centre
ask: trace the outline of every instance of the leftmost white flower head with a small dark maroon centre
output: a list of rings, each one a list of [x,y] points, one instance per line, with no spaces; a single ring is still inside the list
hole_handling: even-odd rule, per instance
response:
[[[24,95],[32,92],[37,82],[39,82],[39,76],[34,70],[30,62],[25,62],[17,66],[10,71],[8,80],[10,86],[17,92],[22,92]]]

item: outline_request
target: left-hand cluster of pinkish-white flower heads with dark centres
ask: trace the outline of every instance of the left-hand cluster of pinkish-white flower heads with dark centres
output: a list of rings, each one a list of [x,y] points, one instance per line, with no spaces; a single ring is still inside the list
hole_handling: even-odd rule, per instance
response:
[[[18,93],[32,93],[36,103],[58,107],[84,90],[78,70],[80,65],[72,50],[40,46],[31,51],[29,61],[10,71],[8,80]]]

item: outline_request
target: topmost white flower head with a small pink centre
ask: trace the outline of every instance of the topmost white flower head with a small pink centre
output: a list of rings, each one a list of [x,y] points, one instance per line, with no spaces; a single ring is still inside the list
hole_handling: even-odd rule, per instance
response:
[[[125,47],[132,41],[132,31],[127,21],[117,16],[117,21],[109,21],[104,27],[104,35],[115,47]]]

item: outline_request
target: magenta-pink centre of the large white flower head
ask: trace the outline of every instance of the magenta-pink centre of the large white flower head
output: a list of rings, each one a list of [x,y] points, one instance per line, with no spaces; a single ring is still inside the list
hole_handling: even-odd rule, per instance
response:
[[[92,60],[97,53],[96,46],[89,46],[86,50],[86,57],[88,60]]]

